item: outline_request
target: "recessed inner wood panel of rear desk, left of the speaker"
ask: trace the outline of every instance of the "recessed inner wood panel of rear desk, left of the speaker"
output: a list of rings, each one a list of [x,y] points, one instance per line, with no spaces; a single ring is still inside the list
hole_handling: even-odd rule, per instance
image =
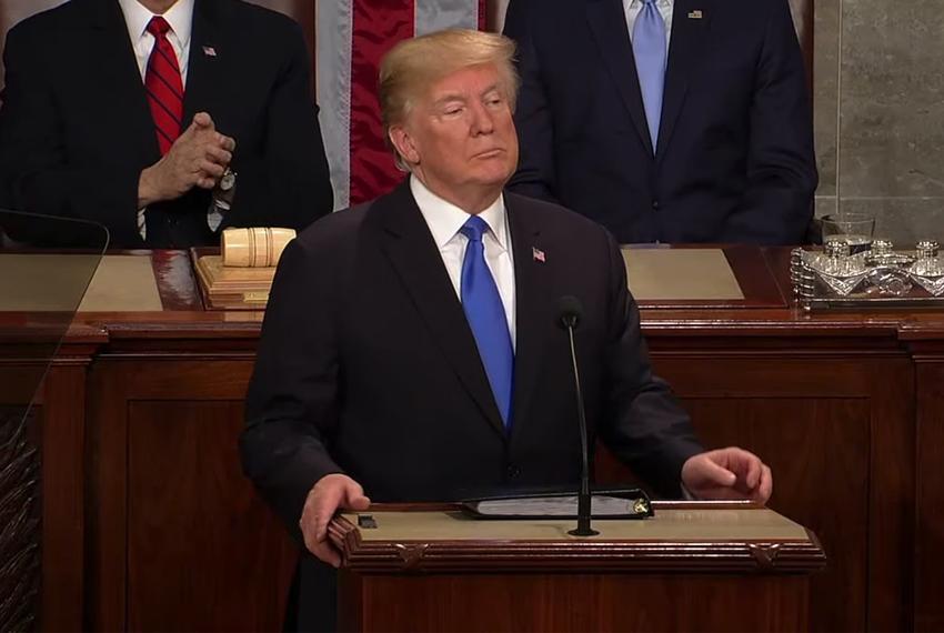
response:
[[[242,411],[241,400],[129,403],[129,630],[281,622],[297,552],[242,475]]]

